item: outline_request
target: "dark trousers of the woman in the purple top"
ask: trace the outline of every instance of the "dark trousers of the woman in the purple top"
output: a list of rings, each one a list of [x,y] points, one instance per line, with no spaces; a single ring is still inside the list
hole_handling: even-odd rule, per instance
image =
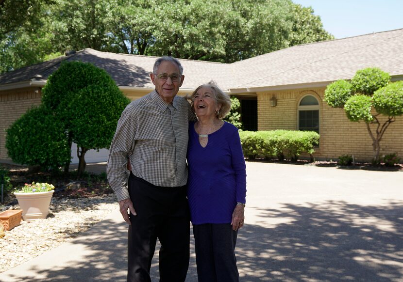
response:
[[[226,224],[193,224],[199,282],[239,282],[235,244],[238,232]]]

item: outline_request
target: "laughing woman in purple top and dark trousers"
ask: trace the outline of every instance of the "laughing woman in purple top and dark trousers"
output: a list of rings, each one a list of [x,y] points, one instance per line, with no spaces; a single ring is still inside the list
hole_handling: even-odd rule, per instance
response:
[[[189,125],[187,195],[199,282],[239,281],[235,243],[244,224],[246,172],[238,129],[221,120],[231,100],[209,83],[191,101],[198,121]]]

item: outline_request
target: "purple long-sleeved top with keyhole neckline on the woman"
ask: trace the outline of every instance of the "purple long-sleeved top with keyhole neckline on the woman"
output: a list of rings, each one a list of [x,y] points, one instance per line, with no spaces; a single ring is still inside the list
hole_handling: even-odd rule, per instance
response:
[[[194,123],[187,145],[187,197],[193,224],[231,223],[236,202],[245,203],[246,171],[238,129],[225,122],[201,147]]]

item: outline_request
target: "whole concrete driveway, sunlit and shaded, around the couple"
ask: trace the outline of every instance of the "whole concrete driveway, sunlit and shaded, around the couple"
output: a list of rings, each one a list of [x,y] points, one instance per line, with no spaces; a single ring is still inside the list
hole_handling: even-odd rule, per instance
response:
[[[403,281],[403,172],[247,162],[247,174],[242,282]],[[123,282],[125,246],[117,211],[0,280]],[[197,281],[191,247],[187,282]],[[157,268],[154,259],[152,281]]]

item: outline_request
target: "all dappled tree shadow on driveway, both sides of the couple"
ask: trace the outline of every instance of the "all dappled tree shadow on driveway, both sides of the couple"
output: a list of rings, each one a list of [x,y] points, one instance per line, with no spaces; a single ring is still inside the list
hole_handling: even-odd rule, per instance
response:
[[[255,213],[265,223],[246,225],[237,240],[242,282],[403,281],[402,202],[389,201],[383,206],[344,201],[303,206],[283,204],[278,209],[256,208]],[[72,256],[73,260],[49,269],[38,270],[31,266],[29,272],[36,272],[35,277],[22,272],[9,277],[24,282],[123,282],[126,279],[126,230],[125,223],[101,221],[91,232],[59,249],[74,253],[75,247],[84,246],[87,251],[78,258]],[[58,253],[55,257],[50,253],[34,260],[57,261],[71,255]],[[157,268],[154,258],[152,281],[158,281]],[[186,281],[197,281],[193,243]]]

